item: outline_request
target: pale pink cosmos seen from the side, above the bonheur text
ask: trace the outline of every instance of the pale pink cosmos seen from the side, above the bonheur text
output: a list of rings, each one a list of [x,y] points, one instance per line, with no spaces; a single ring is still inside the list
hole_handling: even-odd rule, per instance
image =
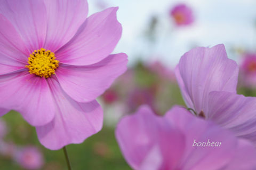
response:
[[[256,144],[256,98],[236,94],[238,67],[224,45],[190,50],[175,74],[188,108]]]

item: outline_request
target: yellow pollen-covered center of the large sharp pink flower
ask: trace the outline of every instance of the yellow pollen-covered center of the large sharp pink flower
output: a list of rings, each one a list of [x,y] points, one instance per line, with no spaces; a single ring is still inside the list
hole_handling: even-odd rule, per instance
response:
[[[26,68],[29,69],[30,74],[48,78],[55,74],[55,70],[59,67],[60,61],[55,59],[53,52],[41,48],[29,55]]]

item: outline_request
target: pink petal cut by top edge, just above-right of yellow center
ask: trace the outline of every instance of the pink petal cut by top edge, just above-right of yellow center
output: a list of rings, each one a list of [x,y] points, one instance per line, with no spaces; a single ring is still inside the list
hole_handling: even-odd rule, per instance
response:
[[[44,47],[52,52],[65,45],[86,20],[88,4],[85,0],[45,0],[47,34]]]

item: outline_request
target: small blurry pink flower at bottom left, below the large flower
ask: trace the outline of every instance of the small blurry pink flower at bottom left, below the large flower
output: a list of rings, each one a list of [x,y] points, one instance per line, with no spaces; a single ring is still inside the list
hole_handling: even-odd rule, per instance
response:
[[[42,153],[35,147],[22,148],[16,153],[15,159],[26,169],[40,169],[44,165]]]

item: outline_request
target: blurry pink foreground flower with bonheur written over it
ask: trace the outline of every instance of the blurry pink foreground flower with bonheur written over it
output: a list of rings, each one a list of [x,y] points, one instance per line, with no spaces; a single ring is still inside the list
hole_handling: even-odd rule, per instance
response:
[[[252,143],[178,106],[164,117],[156,116],[146,106],[141,107],[119,122],[116,138],[133,169],[256,168],[256,150]]]

